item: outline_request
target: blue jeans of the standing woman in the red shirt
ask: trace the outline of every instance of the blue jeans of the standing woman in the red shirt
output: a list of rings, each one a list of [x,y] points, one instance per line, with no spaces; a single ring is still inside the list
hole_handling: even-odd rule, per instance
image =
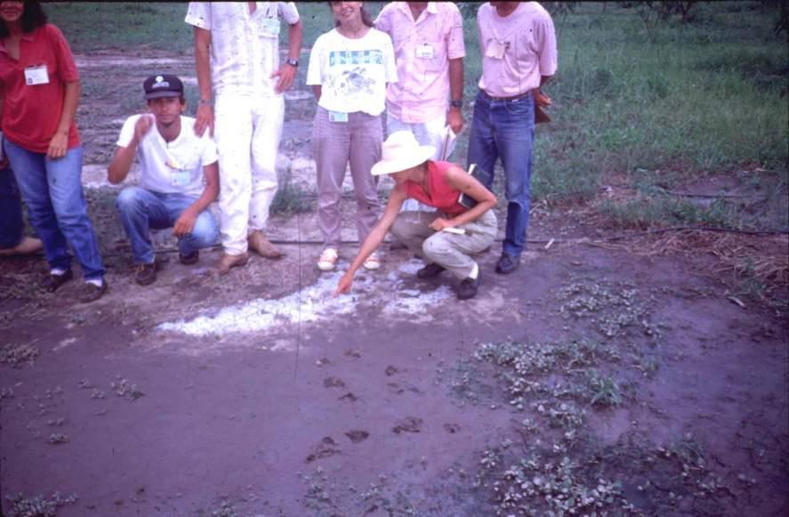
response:
[[[8,140],[4,145],[50,267],[71,269],[68,242],[85,279],[102,279],[99,241],[82,190],[82,146],[68,149],[62,158],[51,159]]]

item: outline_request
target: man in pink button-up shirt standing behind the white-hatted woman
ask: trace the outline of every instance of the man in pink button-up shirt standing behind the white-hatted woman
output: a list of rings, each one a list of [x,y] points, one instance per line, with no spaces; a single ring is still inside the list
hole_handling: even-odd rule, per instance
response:
[[[433,159],[447,158],[447,126],[463,129],[463,16],[452,2],[390,2],[375,28],[391,37],[398,66],[386,95],[386,132],[409,131],[436,149]],[[415,199],[403,206],[417,209],[433,210]]]

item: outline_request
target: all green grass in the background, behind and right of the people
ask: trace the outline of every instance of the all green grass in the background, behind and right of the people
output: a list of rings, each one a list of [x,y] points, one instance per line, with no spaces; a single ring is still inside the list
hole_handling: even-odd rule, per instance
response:
[[[382,4],[366,5],[375,15]],[[481,71],[475,3],[461,4],[468,12],[464,93],[471,101]],[[687,182],[756,167],[777,171],[785,197],[789,56],[785,34],[773,33],[778,4],[700,3],[688,24],[669,20],[654,30],[627,5],[577,4],[554,20],[559,72],[544,88],[554,101],[554,121],[535,131],[535,200],[592,198],[611,174],[635,183],[641,169],[676,171],[674,181]],[[303,46],[310,47],[333,19],[325,3],[298,7]],[[45,8],[79,53],[191,53],[186,4],[70,2]],[[465,162],[467,139],[465,131],[455,151],[459,163]],[[636,226],[656,224],[663,214],[679,222],[743,226],[729,208],[700,214],[684,201],[653,200],[652,194],[617,203],[603,211]],[[760,224],[770,229],[786,228],[784,220],[764,219]]]

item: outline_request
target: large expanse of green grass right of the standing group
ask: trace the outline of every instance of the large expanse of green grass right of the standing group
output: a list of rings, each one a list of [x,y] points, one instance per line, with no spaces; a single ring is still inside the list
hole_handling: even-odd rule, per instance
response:
[[[632,9],[582,4],[558,27],[560,73],[546,88],[557,123],[538,129],[535,173],[562,174],[579,155],[597,164],[592,175],[600,164],[625,174],[678,162],[688,174],[785,169],[789,61],[774,17],[702,4],[695,23],[659,26],[650,43]]]

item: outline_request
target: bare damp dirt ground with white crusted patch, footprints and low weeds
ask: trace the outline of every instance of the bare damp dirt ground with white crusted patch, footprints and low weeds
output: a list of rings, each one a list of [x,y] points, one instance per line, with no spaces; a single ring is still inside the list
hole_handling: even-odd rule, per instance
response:
[[[313,212],[271,222],[281,261],[216,279],[217,250],[165,253],[136,286],[103,171],[146,67],[192,74],[153,58],[78,61],[109,294],[78,305],[77,282],[35,287],[42,257],[0,262],[4,513],[785,514],[785,307],[732,295],[708,246],[646,254],[536,206],[524,263],[481,255],[471,301],[402,250],[333,299]],[[292,95],[280,158],[306,194],[310,102]]]

